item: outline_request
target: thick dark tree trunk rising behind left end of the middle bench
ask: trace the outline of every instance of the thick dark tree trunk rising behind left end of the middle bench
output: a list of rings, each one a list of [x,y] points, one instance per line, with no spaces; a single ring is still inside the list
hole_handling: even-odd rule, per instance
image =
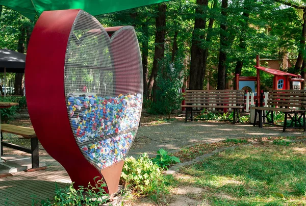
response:
[[[194,29],[192,32],[189,89],[203,89],[205,55],[201,43],[205,37],[203,34],[200,34],[200,31],[206,27],[206,18],[202,16],[206,12],[204,8],[207,7],[208,2],[208,0],[196,0],[198,7],[195,9]]]

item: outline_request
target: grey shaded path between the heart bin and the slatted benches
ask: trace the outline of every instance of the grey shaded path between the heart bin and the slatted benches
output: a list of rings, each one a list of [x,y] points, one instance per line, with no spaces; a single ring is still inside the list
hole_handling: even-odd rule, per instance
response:
[[[254,127],[251,124],[232,124],[231,122],[187,122],[171,121],[159,125],[141,126],[129,155],[147,152],[154,156],[156,151],[164,148],[175,151],[199,143],[212,143],[228,138],[252,138],[272,136],[302,136],[302,130],[286,130],[283,127]]]

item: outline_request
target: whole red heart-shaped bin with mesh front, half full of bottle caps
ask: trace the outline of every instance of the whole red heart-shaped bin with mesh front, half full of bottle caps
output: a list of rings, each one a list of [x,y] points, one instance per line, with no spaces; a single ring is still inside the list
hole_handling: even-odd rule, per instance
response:
[[[133,27],[104,29],[82,10],[43,12],[27,52],[26,97],[45,150],[74,186],[103,178],[117,192],[142,107],[142,64]]]

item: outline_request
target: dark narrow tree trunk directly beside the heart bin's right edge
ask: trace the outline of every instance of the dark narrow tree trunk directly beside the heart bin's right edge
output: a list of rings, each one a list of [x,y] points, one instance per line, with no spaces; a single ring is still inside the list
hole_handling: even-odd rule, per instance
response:
[[[148,37],[148,26],[147,24],[142,25],[142,30],[144,33],[144,40],[142,41],[142,70],[143,70],[143,94],[148,97],[148,47],[149,47],[149,37]]]

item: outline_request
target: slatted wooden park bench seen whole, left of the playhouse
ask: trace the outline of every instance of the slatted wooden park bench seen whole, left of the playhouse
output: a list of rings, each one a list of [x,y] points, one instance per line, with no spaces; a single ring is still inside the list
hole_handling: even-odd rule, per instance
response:
[[[189,112],[192,121],[192,108],[231,108],[234,110],[235,124],[236,118],[239,121],[239,109],[244,108],[244,90],[187,90],[182,107],[186,108],[185,122]]]

